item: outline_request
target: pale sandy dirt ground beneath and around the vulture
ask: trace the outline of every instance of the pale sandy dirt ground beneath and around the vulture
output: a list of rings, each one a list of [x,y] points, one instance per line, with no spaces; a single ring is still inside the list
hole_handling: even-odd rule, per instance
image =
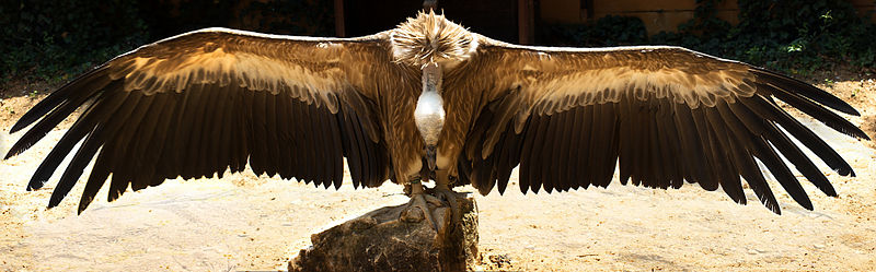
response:
[[[822,72],[815,78],[819,80],[810,82],[855,106],[862,117],[850,117],[852,122],[876,137],[874,75]],[[30,94],[28,87],[33,86],[23,86],[22,93]],[[23,134],[10,135],[11,125],[41,98],[5,97],[0,100],[2,154]],[[738,205],[723,191],[708,192],[696,185],[652,190],[615,180],[607,189],[567,193],[493,192],[475,198],[483,257],[477,268],[876,270],[876,145],[808,118],[802,120],[857,173],[857,177],[841,177],[815,159],[839,198],[826,197],[797,175],[815,211],[794,203],[774,180],[771,186],[783,209],[781,216],[764,209],[751,191],[747,191],[750,204]],[[67,126],[26,153],[0,162],[0,270],[280,270],[310,244],[310,234],[407,200],[401,187],[391,182],[365,190],[354,190],[346,182],[341,190],[324,190],[247,172],[222,179],[169,180],[127,192],[112,203],[97,199],[76,215],[82,181],[60,206],[46,210],[60,170],[42,190],[26,192],[24,188]]]

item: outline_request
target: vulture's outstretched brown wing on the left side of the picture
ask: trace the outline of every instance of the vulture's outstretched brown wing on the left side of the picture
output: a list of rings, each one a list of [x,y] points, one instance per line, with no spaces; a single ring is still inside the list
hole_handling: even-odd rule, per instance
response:
[[[39,102],[12,128],[38,120],[7,158],[85,105],[28,185],[43,187],[84,139],[49,208],[95,154],[79,212],[111,173],[111,201],[128,186],[221,177],[247,162],[256,175],[339,187],[346,157],[356,187],[377,186],[389,177],[389,158],[373,81],[400,72],[389,64],[384,40],[381,34],[328,39],[223,28],[168,38],[119,56]]]

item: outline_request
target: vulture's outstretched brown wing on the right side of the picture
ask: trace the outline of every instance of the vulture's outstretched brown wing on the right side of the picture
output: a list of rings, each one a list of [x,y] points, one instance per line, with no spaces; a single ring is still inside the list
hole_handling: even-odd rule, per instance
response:
[[[462,181],[482,193],[494,186],[503,192],[518,164],[523,192],[606,187],[620,164],[622,184],[666,189],[688,180],[706,190],[721,187],[745,203],[741,176],[780,213],[757,158],[811,210],[782,156],[821,191],[837,193],[787,134],[840,175],[854,173],[773,98],[845,134],[867,138],[825,108],[858,115],[846,103],[745,63],[678,47],[561,49],[482,39],[476,57],[458,71],[469,78],[446,83],[483,92],[488,102],[459,165]]]

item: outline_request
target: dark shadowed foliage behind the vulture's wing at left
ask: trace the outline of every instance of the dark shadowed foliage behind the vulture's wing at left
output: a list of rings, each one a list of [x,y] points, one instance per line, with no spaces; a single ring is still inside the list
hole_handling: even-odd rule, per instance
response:
[[[69,80],[138,46],[211,26],[328,36],[332,1],[3,0],[0,84]]]

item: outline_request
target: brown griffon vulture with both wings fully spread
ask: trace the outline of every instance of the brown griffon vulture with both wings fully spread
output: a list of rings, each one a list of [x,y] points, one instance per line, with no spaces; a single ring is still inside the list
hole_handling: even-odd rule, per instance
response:
[[[687,180],[722,188],[738,203],[746,203],[745,178],[780,213],[757,158],[811,210],[784,159],[828,196],[837,192],[789,135],[840,175],[854,172],[775,98],[868,139],[827,108],[858,113],[822,90],[680,47],[518,46],[433,12],[356,38],[207,28],[67,83],[12,127],[36,122],[5,157],[84,106],[27,186],[43,187],[84,139],[49,208],[96,156],[79,212],[110,174],[110,201],[128,187],[221,177],[247,164],[257,175],[337,188],[344,158],[354,187],[391,179],[410,189],[411,208],[454,198],[451,189],[466,184],[502,193],[518,166],[520,190],[552,192],[606,187],[620,165],[622,184],[666,189]],[[420,180],[428,179],[436,188],[427,193]]]

